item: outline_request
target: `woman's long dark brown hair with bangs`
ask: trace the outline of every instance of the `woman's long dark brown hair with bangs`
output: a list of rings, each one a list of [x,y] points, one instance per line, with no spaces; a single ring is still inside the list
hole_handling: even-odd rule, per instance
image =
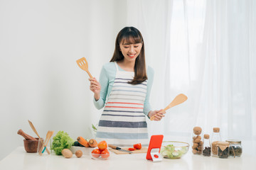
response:
[[[142,38],[142,33],[139,32],[137,28],[134,27],[125,27],[117,34],[114,47],[114,55],[110,62],[116,62],[123,60],[124,56],[120,51],[120,43],[126,40],[131,44],[142,43],[142,50],[139,53],[139,56],[135,60],[134,64],[134,79],[129,84],[141,84],[147,79],[146,77],[146,62],[145,62],[145,51],[144,51],[144,40]]]

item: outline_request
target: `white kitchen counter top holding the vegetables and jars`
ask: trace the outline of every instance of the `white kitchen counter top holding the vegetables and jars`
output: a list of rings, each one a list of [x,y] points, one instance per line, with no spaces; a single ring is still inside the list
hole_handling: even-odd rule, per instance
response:
[[[1,160],[0,169],[255,169],[256,157],[242,154],[240,158],[220,159],[193,155],[191,149],[181,159],[163,159],[162,162],[146,160],[146,154],[114,154],[110,159],[95,160],[89,155],[81,158],[65,159],[63,156],[26,153],[23,147],[17,147],[11,154]]]

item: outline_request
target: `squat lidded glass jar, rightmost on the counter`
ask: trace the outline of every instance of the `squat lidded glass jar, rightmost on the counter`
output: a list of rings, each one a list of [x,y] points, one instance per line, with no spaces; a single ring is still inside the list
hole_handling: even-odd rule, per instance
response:
[[[240,140],[226,140],[230,147],[228,148],[229,157],[241,157],[242,145]]]

